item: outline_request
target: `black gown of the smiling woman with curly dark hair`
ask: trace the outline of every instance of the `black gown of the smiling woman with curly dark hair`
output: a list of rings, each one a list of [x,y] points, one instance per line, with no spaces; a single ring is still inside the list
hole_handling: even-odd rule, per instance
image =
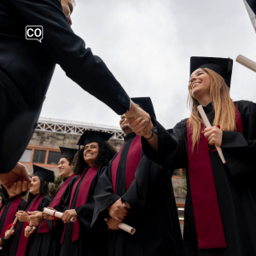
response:
[[[93,195],[95,193],[96,184],[99,177],[102,175],[102,172],[105,170],[105,167],[100,167],[96,176],[93,178],[90,185],[89,194],[87,197],[87,202],[85,205],[76,208],[76,203],[79,195],[79,187],[84,180],[84,177],[81,178],[79,185],[73,196],[73,202],[71,209],[75,209],[78,213],[79,219],[79,239],[77,241],[72,241],[73,236],[73,223],[67,224],[66,233],[64,236],[63,243],[61,244],[61,253],[60,256],[101,256],[108,253],[108,226],[103,223],[99,224],[95,229],[90,230],[91,219],[94,211],[95,202]],[[76,179],[79,179],[77,177]],[[66,206],[66,210],[68,208]]]

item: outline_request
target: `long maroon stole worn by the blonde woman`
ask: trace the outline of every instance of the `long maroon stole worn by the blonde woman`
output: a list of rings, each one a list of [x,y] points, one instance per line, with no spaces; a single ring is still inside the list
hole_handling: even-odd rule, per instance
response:
[[[204,130],[205,125],[201,125]],[[236,108],[236,131],[242,132],[241,115]],[[218,207],[212,164],[207,149],[206,137],[201,134],[199,150],[195,145],[192,154],[192,129],[187,122],[189,160],[189,184],[195,216],[195,228],[199,249],[227,247],[222,219]],[[219,161],[221,161],[219,159]]]

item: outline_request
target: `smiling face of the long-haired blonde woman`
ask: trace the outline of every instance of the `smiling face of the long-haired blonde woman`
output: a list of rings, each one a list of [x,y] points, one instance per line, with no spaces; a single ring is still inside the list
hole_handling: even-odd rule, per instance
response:
[[[210,96],[211,80],[209,75],[201,68],[196,69],[189,80],[189,94],[197,101],[204,96]]]

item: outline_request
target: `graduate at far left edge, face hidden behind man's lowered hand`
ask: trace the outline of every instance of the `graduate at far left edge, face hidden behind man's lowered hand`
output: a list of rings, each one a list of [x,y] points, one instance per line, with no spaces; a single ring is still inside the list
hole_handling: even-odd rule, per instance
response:
[[[2,197],[6,201],[6,204],[3,206],[0,212],[0,256],[9,256],[9,248],[12,243],[12,239],[5,239],[5,230],[9,229],[9,226],[15,220],[15,213],[21,211],[26,206],[26,200],[22,197],[26,195],[26,192],[21,192],[20,195],[15,193],[8,194],[7,190],[2,185]]]

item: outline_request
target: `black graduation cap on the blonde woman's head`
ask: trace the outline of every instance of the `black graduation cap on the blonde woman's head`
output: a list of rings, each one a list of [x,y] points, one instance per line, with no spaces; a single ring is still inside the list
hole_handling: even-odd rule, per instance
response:
[[[191,57],[190,58],[190,75],[198,68],[207,67],[212,69],[225,79],[226,84],[230,87],[233,60],[230,58],[211,58],[211,57]]]

